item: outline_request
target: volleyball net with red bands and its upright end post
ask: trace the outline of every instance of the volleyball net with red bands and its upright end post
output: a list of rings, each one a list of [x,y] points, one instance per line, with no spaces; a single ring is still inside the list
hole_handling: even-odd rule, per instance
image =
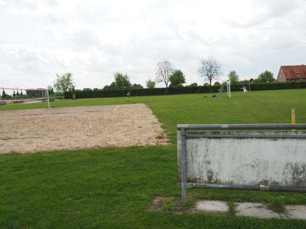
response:
[[[0,104],[47,102],[50,108],[48,90],[24,88],[0,88]]]

